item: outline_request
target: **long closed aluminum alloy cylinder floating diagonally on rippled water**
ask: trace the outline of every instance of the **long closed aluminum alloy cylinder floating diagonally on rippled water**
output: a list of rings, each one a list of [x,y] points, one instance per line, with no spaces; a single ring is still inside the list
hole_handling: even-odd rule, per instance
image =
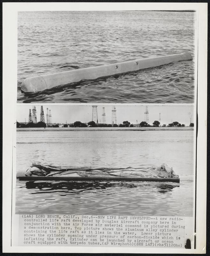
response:
[[[145,58],[141,60],[131,60],[90,68],[81,68],[43,76],[28,77],[22,82],[21,91],[40,92],[59,85],[76,83],[81,80],[93,80],[100,77],[113,76],[144,68],[157,67],[180,60],[192,60],[192,56],[190,53],[185,52],[180,54],[160,56],[155,58]]]

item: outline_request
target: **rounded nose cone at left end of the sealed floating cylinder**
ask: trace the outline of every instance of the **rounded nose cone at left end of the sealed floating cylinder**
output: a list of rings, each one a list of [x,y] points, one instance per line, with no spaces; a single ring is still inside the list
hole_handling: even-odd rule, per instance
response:
[[[41,76],[26,78],[21,84],[23,92],[40,92],[47,89],[47,84]]]

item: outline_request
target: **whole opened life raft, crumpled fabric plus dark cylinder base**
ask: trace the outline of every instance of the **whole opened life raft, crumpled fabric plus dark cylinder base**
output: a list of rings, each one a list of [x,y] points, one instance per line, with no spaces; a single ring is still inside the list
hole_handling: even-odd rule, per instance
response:
[[[19,180],[68,180],[68,181],[170,181],[179,182],[173,168],[162,164],[155,168],[92,168],[33,163]]]

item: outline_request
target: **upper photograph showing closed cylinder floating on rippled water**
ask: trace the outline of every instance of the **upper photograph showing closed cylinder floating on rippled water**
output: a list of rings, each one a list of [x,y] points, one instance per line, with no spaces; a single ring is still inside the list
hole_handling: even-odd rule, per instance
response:
[[[18,103],[194,103],[196,12],[18,12]]]

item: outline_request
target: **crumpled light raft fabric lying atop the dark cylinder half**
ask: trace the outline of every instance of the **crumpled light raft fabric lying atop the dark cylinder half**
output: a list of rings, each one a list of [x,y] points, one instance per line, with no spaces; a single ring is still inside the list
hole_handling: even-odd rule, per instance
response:
[[[48,165],[42,163],[33,163],[31,168],[27,169],[25,176],[45,176],[45,177],[142,177],[142,178],[178,178],[173,168],[167,164],[155,168],[92,168],[87,166],[64,166]]]

